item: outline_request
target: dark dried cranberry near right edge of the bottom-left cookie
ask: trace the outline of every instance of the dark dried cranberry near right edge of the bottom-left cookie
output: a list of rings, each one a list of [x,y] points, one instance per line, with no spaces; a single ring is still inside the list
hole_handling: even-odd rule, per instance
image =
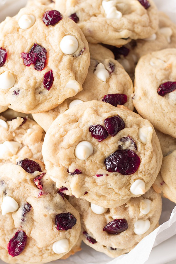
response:
[[[76,224],[76,218],[70,213],[58,214],[55,218],[57,230],[69,230]]]

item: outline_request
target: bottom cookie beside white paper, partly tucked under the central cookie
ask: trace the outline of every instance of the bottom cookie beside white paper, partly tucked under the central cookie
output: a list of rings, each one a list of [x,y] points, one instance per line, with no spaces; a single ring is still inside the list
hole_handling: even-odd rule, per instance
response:
[[[117,208],[80,198],[73,198],[71,204],[80,213],[84,243],[112,258],[128,253],[158,227],[162,209],[161,196],[152,187]]]

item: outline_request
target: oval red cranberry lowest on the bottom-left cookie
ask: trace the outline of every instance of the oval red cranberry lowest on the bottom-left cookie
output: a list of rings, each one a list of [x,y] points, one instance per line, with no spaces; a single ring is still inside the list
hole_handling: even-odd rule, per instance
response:
[[[7,245],[9,255],[11,255],[12,257],[20,255],[26,246],[26,242],[26,233],[23,230],[18,230],[15,236],[11,238]]]

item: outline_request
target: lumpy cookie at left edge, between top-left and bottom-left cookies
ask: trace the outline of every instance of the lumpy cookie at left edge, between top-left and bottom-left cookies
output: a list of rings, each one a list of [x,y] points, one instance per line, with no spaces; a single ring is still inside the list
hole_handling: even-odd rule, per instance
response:
[[[0,165],[22,158],[43,160],[41,149],[44,131],[28,117],[6,121],[0,116]]]

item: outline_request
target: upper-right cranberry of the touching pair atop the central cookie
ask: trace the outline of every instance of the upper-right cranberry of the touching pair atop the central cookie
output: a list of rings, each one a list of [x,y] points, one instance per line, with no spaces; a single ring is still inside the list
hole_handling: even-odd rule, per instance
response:
[[[119,131],[125,128],[125,123],[120,116],[112,116],[104,120],[108,133],[114,137]]]

